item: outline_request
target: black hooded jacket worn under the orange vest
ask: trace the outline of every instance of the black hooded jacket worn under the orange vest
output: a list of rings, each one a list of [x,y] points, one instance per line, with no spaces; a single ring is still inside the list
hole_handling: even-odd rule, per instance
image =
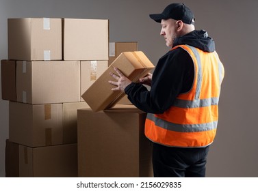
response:
[[[214,40],[206,31],[192,31],[177,39],[173,46],[188,44],[205,52],[215,50]],[[194,80],[194,63],[182,48],[170,50],[161,57],[153,72],[151,90],[140,83],[125,88],[128,99],[147,113],[164,113],[172,106],[179,93],[190,91]]]

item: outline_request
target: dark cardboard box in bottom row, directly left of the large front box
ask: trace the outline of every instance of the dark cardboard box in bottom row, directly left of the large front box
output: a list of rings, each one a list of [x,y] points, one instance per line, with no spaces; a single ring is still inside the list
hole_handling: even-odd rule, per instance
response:
[[[77,144],[19,145],[20,177],[77,177]]]

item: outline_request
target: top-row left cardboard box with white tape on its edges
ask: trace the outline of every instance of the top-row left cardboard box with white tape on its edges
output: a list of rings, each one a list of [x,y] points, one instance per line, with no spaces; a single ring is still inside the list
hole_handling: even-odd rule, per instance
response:
[[[62,19],[8,18],[8,58],[62,60]]]

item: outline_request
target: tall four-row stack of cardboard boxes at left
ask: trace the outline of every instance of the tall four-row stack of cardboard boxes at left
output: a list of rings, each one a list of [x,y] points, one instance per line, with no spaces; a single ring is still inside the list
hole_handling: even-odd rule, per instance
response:
[[[10,164],[17,147],[18,165],[6,165],[7,176],[77,177],[77,109],[89,107],[81,100],[83,83],[96,80],[107,61],[108,20],[8,19],[8,59],[1,61],[2,99],[10,101],[5,152]],[[96,77],[89,80],[88,63]]]

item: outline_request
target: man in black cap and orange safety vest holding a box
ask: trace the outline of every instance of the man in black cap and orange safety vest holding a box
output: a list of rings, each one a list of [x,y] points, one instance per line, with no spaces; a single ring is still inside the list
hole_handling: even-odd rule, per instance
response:
[[[194,14],[183,3],[172,3],[150,17],[161,23],[160,35],[170,51],[140,83],[132,83],[118,68],[109,83],[148,113],[145,135],[153,141],[155,177],[205,177],[218,123],[223,65],[214,40],[206,31],[195,30]]]

